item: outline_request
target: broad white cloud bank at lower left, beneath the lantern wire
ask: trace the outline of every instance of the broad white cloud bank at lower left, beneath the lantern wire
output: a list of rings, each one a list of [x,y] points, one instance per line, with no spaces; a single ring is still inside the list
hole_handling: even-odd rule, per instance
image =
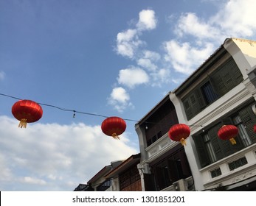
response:
[[[114,160],[136,154],[126,133],[120,141],[100,125],[28,124],[0,116],[1,191],[72,191]],[[36,187],[35,187],[36,185]]]

